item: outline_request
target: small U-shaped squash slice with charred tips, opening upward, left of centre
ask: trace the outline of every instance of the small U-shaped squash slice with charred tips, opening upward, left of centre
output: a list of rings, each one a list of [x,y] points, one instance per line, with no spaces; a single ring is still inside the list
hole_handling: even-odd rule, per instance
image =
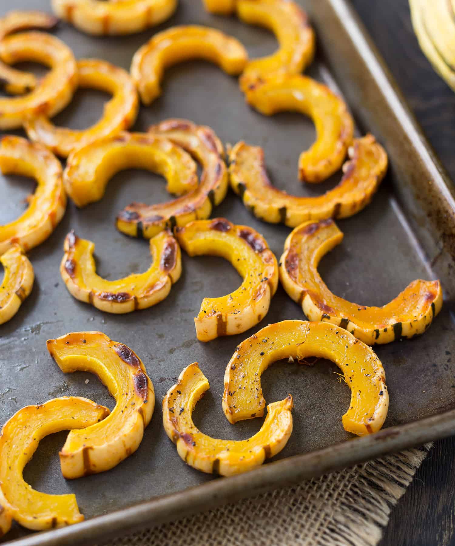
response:
[[[153,263],[147,271],[106,281],[97,275],[92,241],[70,232],[60,273],[71,295],[107,313],[145,309],[167,298],[182,272],[180,247],[167,230],[150,240]]]

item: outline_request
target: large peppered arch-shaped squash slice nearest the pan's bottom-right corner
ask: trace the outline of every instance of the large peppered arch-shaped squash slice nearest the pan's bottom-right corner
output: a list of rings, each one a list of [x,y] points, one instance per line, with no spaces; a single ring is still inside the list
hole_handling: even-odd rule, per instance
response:
[[[332,360],[351,389],[344,429],[358,436],[377,432],[388,410],[384,368],[373,350],[346,330],[326,322],[269,324],[240,343],[224,374],[223,410],[230,423],[264,415],[261,375],[277,360]]]

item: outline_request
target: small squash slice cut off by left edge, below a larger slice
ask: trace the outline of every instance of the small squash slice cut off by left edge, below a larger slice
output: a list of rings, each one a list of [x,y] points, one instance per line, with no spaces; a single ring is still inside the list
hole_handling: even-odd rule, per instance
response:
[[[32,292],[35,275],[32,264],[19,245],[0,256],[4,277],[0,284],[0,324],[9,321],[22,301]]]

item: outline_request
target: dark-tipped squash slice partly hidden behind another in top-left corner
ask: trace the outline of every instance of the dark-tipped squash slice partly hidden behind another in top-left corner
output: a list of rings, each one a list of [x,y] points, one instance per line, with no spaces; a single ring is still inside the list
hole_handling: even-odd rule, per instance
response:
[[[10,11],[0,19],[0,40],[8,34],[29,28],[49,29],[57,21],[57,17],[41,11]],[[21,72],[0,62],[0,83],[7,93],[20,95],[32,91],[37,79],[31,72]]]

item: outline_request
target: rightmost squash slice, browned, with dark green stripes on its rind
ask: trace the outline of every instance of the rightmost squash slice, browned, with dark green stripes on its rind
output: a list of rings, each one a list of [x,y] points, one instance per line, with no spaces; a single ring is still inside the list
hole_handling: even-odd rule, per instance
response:
[[[321,258],[343,240],[333,220],[306,222],[286,239],[280,281],[311,321],[328,321],[368,345],[414,337],[432,323],[442,307],[439,281],[411,282],[382,307],[367,307],[332,294],[318,273]]]

